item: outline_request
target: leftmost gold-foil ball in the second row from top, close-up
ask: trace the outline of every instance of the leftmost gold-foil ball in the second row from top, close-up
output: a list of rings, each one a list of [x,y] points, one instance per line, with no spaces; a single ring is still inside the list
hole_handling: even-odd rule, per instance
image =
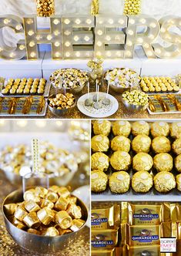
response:
[[[109,138],[102,134],[93,136],[91,147],[94,152],[106,152],[109,150]]]

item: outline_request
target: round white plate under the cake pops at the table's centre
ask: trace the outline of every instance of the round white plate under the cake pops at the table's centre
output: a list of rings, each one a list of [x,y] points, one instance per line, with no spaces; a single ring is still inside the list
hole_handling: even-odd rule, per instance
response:
[[[95,93],[90,93],[91,98],[94,95],[95,95]],[[99,93],[99,96],[106,97],[106,93]],[[85,106],[84,106],[85,99],[88,99],[88,94],[81,96],[77,102],[77,107],[78,107],[79,111],[82,112],[85,116],[90,116],[93,118],[108,117],[108,116],[112,116],[114,113],[116,113],[116,111],[119,108],[119,103],[118,103],[117,99],[115,99],[115,97],[113,97],[112,95],[108,94],[108,99],[110,99],[112,102],[111,109],[106,113],[91,113],[87,109],[85,109]]]

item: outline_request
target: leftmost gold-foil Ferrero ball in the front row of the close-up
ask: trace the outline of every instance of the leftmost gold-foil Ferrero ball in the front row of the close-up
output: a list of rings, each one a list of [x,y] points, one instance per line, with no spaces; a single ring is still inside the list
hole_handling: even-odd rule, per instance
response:
[[[91,172],[91,190],[99,193],[106,190],[108,177],[102,170],[92,170]]]

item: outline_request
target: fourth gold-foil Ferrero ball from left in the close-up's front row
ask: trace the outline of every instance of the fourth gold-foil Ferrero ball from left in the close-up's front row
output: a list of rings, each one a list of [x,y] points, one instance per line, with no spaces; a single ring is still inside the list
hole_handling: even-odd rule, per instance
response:
[[[154,177],[154,186],[157,191],[164,193],[176,187],[176,180],[173,173],[162,171]]]

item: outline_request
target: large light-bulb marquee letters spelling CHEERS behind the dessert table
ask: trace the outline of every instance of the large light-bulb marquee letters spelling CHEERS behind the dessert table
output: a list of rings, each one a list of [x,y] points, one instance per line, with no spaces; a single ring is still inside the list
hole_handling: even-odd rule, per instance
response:
[[[9,27],[25,39],[10,47],[0,39],[0,58],[39,59],[39,44],[52,46],[52,59],[132,59],[136,46],[148,58],[171,59],[181,55],[181,18],[157,21],[148,15],[52,16],[49,29],[37,29],[36,17],[0,16],[0,28]],[[160,39],[163,43],[156,42]],[[163,46],[166,45],[166,46]]]

